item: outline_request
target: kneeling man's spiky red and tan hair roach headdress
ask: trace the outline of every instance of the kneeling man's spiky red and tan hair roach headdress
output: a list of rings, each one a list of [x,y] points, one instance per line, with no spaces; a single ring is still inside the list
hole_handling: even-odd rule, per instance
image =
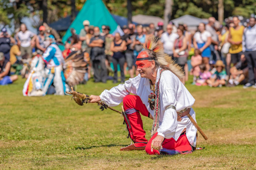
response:
[[[184,76],[182,68],[176,64],[168,54],[164,53],[163,43],[160,41],[160,39],[157,39],[154,36],[148,37],[143,45],[143,48],[147,52],[149,58],[157,58],[157,60],[154,60],[156,68],[161,67],[165,70],[169,70],[178,78],[182,78]],[[155,94],[150,94],[149,98],[155,99]],[[151,110],[154,110],[155,100],[149,101],[149,106]]]

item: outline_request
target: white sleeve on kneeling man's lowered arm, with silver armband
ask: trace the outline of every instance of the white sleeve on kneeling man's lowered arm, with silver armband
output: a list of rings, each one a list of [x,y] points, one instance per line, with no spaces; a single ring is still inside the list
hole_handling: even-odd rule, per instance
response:
[[[173,105],[176,107],[176,99],[174,97],[173,89],[166,89],[163,93],[163,108],[166,109],[168,106]],[[175,135],[177,123],[177,112],[170,108],[165,110],[163,115],[162,124],[158,128],[158,135],[163,136],[166,139],[170,139]]]

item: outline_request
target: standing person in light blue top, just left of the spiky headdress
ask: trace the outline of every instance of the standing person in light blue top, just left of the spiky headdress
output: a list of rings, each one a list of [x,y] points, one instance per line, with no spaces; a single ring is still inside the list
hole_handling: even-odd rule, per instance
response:
[[[137,36],[134,38],[133,41],[133,48],[134,48],[134,65],[135,65],[135,61],[137,56],[139,55],[139,53],[142,51],[143,47],[142,44],[145,43],[146,40],[146,35],[142,34],[142,26],[137,26]],[[136,70],[136,76],[139,74],[139,72]]]

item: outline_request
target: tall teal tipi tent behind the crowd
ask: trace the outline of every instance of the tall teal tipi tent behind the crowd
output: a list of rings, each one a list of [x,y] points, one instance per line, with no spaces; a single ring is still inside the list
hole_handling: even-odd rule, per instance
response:
[[[71,36],[71,28],[74,28],[77,34],[80,33],[80,30],[84,28],[84,20],[90,21],[90,25],[98,26],[100,29],[102,25],[110,26],[111,34],[115,32],[123,33],[117,22],[115,22],[114,18],[111,16],[109,10],[105,7],[105,4],[103,4],[102,0],[87,0],[84,7],[77,14],[76,19],[69,26],[69,29],[62,38],[63,43],[65,43],[65,41],[67,41]]]

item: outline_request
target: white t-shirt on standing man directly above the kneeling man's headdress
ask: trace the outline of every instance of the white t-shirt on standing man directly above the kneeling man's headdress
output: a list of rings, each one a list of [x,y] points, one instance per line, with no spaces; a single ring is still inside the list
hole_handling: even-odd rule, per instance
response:
[[[179,38],[176,33],[171,33],[170,35],[165,32],[162,34],[161,41],[163,43],[164,53],[173,54],[172,48],[174,46],[175,39]]]

